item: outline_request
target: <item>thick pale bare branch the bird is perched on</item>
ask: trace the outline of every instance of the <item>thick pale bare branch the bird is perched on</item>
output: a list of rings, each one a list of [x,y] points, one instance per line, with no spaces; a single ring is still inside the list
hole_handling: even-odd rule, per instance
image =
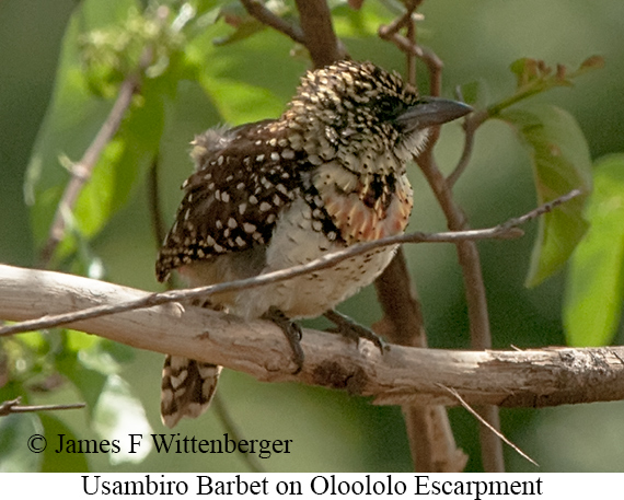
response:
[[[0,266],[0,317],[44,314],[138,300],[147,292],[104,281]],[[624,398],[624,348],[546,348],[525,351],[454,351],[371,342],[305,329],[305,363],[294,364],[273,323],[244,322],[203,307],[160,305],[70,325],[140,349],[221,364],[265,382],[298,381],[378,404],[455,405],[450,387],[470,405],[543,407]]]

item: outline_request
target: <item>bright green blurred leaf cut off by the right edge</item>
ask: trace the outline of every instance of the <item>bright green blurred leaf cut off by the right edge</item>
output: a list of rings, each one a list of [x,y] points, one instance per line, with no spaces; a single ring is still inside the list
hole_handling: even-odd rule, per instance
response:
[[[604,346],[615,335],[624,301],[624,155],[597,162],[587,218],[566,282],[564,326],[571,346]]]

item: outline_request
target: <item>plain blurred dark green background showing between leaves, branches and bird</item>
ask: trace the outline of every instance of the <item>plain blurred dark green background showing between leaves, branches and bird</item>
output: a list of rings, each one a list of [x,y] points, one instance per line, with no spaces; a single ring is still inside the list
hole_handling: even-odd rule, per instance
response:
[[[365,3],[375,3],[373,0]],[[74,1],[0,0],[0,261],[32,266],[33,241],[22,184],[31,149],[49,102],[61,36]],[[605,58],[603,70],[580,78],[574,89],[536,97],[573,113],[597,159],[624,151],[624,3],[620,0],[500,0],[425,2],[421,40],[446,63],[444,94],[478,80],[487,102],[511,92],[508,70],[520,57],[576,67],[586,57]],[[339,30],[339,26],[338,26]],[[346,37],[354,57],[402,68],[394,47],[374,37]],[[286,103],[305,65],[289,56],[291,44],[277,34],[262,34],[217,53],[222,74],[270,89]],[[176,126],[163,138],[163,207],[171,220],[180,199],[178,185],[190,170],[187,143],[218,117],[200,91],[189,84],[178,94]],[[447,170],[459,155],[460,128],[446,128],[438,159]],[[443,219],[418,172],[412,174],[417,196],[412,230],[440,230]],[[502,123],[478,132],[473,161],[457,196],[474,226],[490,225],[534,207],[527,151]],[[534,228],[520,241],[479,244],[496,347],[562,345],[561,302],[564,276],[534,290],[523,288]],[[154,242],[146,210],[145,189],[96,239],[107,279],[157,290]],[[408,248],[427,318],[430,345],[467,346],[461,274],[450,246]],[[425,264],[424,264],[425,263]],[[365,323],[379,318],[371,289],[349,300],[343,311]],[[620,335],[620,344],[622,344]],[[143,402],[155,432],[161,356],[140,352],[123,373]],[[400,410],[375,407],[361,398],[296,384],[261,384],[226,372],[220,391],[244,434],[254,439],[293,439],[293,453],[265,461],[267,470],[408,472],[409,455]],[[42,397],[42,403],[76,400],[70,391]],[[539,472],[624,470],[624,405],[596,404],[533,410],[502,410],[504,431],[540,463]],[[65,414],[80,437],[93,438],[80,411]],[[470,453],[470,469],[479,469],[477,425],[461,409],[451,410],[459,444]],[[182,435],[213,438],[223,430],[213,412],[176,429]],[[535,470],[509,449],[508,466]],[[89,458],[97,472],[115,468],[104,455]],[[118,467],[117,467],[118,468]],[[116,469],[117,469],[116,468]],[[152,454],[124,470],[245,470],[235,456],[158,456]]]

